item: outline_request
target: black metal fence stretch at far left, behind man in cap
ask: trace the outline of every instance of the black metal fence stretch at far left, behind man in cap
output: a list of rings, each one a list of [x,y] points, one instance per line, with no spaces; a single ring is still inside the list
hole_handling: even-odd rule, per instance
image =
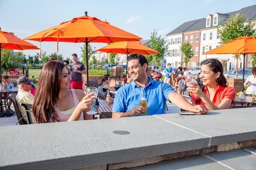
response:
[[[1,68],[2,76],[8,75],[10,78],[18,78],[20,76],[29,77],[29,69],[25,67]]]

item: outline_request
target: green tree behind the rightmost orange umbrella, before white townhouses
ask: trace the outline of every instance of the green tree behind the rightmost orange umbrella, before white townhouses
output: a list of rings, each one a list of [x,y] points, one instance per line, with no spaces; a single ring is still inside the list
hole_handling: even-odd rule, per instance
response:
[[[242,37],[245,34],[250,37],[256,36],[256,30],[253,30],[253,25],[248,24],[248,19],[244,17],[244,14],[238,13],[231,15],[227,18],[227,22],[222,21],[221,26],[217,27],[217,31],[220,37],[220,43],[225,44],[235,38]],[[240,60],[240,55],[234,56],[236,59],[236,78],[238,71],[238,61]]]

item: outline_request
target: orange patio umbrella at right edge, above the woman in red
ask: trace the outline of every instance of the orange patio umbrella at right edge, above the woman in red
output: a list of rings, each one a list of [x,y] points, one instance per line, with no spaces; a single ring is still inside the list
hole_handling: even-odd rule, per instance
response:
[[[205,52],[204,54],[256,54],[256,38],[253,37],[239,37],[227,42],[224,45],[221,45],[217,48],[214,48],[210,51]],[[244,64],[243,64],[243,84],[244,84]],[[244,88],[243,88],[244,91]]]

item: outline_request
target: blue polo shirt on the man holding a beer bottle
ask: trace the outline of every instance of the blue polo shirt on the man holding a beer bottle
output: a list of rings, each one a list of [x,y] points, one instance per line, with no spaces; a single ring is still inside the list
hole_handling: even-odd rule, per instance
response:
[[[148,103],[148,115],[164,114],[168,95],[175,90],[169,84],[152,80],[145,86],[145,98]],[[140,105],[141,87],[134,81],[122,86],[116,92],[112,112],[127,112]]]

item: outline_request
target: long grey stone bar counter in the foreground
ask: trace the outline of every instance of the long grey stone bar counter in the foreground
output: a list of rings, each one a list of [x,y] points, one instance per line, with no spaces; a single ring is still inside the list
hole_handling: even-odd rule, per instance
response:
[[[0,170],[137,167],[253,146],[255,139],[256,108],[7,126],[0,127]]]

